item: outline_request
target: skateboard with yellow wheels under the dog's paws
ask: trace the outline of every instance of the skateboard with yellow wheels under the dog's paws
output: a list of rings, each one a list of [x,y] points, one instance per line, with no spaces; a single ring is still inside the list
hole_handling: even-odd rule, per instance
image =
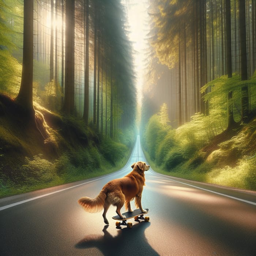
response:
[[[122,215],[125,215],[125,219],[121,219],[119,217],[119,215],[116,215],[116,216],[113,216],[112,219],[115,219],[117,220],[116,222],[116,228],[117,229],[121,229],[121,225],[124,225],[124,226],[127,226],[128,228],[131,228],[132,227],[132,223],[131,222],[127,222],[128,219],[131,219],[131,218],[134,218],[135,221],[138,221],[140,222],[140,220],[143,220],[144,219],[144,222],[149,222],[149,217],[146,216],[144,218],[144,214],[147,214],[149,212],[148,209],[145,209],[146,212],[141,212],[140,209],[136,209],[134,210],[133,212],[124,212],[122,213]],[[122,222],[120,222],[122,221]]]

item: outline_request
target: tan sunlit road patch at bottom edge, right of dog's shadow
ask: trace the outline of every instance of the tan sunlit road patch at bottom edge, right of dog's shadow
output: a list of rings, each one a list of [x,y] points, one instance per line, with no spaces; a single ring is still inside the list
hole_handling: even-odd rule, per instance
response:
[[[155,251],[161,252],[161,255],[223,255],[224,242],[193,230],[186,224],[157,218],[151,221],[150,229],[145,230],[145,235],[149,242],[152,241]],[[237,253],[230,248],[227,255],[234,256]]]

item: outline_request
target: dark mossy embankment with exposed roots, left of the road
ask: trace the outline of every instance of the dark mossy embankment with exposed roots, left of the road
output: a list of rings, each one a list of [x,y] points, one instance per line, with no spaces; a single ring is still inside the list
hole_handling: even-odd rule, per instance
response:
[[[132,138],[113,141],[75,117],[34,105],[35,121],[0,94],[0,197],[113,172],[124,166]]]

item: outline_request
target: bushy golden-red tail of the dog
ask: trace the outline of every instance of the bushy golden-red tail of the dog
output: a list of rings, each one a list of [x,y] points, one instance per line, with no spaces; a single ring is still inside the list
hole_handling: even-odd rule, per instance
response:
[[[78,203],[86,210],[87,212],[99,212],[103,209],[105,199],[107,197],[107,191],[105,188],[102,189],[101,192],[99,192],[99,195],[95,198],[90,198],[87,196],[81,197],[78,200]]]

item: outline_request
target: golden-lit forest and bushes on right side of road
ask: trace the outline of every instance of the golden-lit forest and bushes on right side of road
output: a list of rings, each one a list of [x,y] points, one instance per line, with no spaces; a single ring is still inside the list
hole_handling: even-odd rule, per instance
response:
[[[255,1],[150,3],[148,157],[169,175],[255,190]]]

